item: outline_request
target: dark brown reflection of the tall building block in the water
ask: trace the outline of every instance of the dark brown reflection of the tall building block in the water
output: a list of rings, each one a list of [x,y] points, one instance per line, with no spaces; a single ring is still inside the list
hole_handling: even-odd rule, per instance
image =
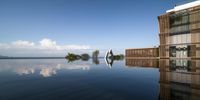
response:
[[[160,60],[160,100],[199,100],[200,60]]]

